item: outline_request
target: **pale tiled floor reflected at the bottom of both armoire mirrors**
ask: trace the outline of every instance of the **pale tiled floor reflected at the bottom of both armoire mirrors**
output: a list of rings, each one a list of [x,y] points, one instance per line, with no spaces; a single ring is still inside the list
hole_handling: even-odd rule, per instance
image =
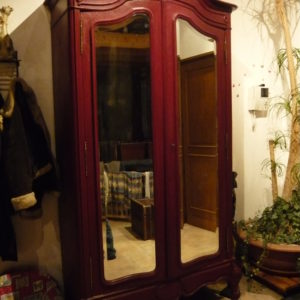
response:
[[[131,224],[110,220],[114,248],[117,258],[104,259],[105,278],[113,280],[130,274],[153,271],[155,268],[155,241],[142,240],[131,231]],[[106,227],[102,225],[104,251],[106,249]],[[208,255],[218,250],[218,232],[211,232],[185,224],[181,230],[182,262]],[[201,245],[199,247],[199,245]]]

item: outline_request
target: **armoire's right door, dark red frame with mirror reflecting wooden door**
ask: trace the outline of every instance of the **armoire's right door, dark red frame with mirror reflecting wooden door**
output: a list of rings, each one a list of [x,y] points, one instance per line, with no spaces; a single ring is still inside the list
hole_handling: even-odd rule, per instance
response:
[[[221,92],[226,82],[222,47],[226,37],[195,10],[179,9],[176,1],[164,2],[163,8],[164,48],[172,53],[164,56],[165,74],[169,71],[165,117],[172,124],[165,143],[166,148],[173,145],[165,161],[167,222],[168,228],[175,227],[167,245],[174,240],[179,245],[169,250],[170,273],[176,276],[227,255],[229,223],[224,215],[231,209],[225,204],[231,194],[224,182],[229,182],[226,170],[231,166],[227,99]]]

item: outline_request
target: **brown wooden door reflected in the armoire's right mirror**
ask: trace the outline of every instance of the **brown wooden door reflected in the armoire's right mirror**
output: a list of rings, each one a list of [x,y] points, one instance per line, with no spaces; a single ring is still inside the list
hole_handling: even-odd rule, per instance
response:
[[[218,226],[215,55],[183,60],[180,68],[186,222],[215,231]]]

